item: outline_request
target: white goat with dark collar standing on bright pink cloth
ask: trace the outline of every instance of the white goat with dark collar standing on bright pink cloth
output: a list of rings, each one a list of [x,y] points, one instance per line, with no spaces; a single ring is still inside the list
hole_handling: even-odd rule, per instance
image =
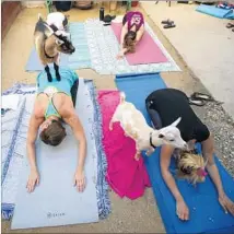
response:
[[[180,131],[176,128],[180,118],[165,128],[155,130],[147,124],[141,112],[139,112],[132,103],[126,102],[125,98],[125,93],[121,92],[120,104],[117,106],[112,117],[109,130],[113,130],[114,122],[120,122],[125,136],[136,141],[136,160],[140,159],[141,151],[147,150],[147,155],[150,155],[154,152],[156,147],[162,144],[171,144],[175,148],[187,149],[187,143],[182,139]]]

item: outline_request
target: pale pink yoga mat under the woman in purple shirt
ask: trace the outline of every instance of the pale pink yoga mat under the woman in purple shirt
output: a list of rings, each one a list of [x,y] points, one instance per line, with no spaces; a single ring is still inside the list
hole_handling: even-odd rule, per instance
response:
[[[121,23],[112,23],[112,28],[120,43]],[[126,55],[129,65],[147,65],[167,62],[167,58],[153,40],[151,35],[144,31],[141,40],[136,46],[136,52]]]

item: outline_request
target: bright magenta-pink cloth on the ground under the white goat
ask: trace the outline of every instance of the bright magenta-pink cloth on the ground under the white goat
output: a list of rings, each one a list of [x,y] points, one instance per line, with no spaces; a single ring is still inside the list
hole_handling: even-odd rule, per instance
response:
[[[112,189],[122,197],[137,199],[150,187],[143,160],[134,160],[136,143],[124,134],[119,122],[109,131],[109,121],[119,104],[118,91],[100,91],[98,103],[103,118],[103,145],[107,157],[106,179]]]

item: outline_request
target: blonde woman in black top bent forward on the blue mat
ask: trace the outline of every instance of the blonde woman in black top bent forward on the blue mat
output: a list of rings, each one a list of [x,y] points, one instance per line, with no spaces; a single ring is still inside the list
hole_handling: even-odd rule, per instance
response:
[[[194,184],[203,182],[207,175],[204,167],[210,175],[217,191],[218,200],[224,211],[234,215],[234,202],[226,196],[219,169],[215,165],[213,153],[213,138],[206,125],[196,116],[189,105],[189,100],[185,93],[174,89],[163,89],[152,92],[145,100],[148,113],[156,129],[172,122],[178,116],[182,121],[177,128],[180,130],[182,138],[188,143],[189,150],[195,151],[195,143],[200,142],[202,156],[195,153],[179,153],[177,159],[177,175],[191,180]],[[178,151],[174,151],[172,145],[163,145],[161,149],[161,172],[162,176],[176,200],[176,213],[180,220],[189,219],[189,208],[187,207],[182,194],[179,192],[175,179],[169,172],[171,157]]]

